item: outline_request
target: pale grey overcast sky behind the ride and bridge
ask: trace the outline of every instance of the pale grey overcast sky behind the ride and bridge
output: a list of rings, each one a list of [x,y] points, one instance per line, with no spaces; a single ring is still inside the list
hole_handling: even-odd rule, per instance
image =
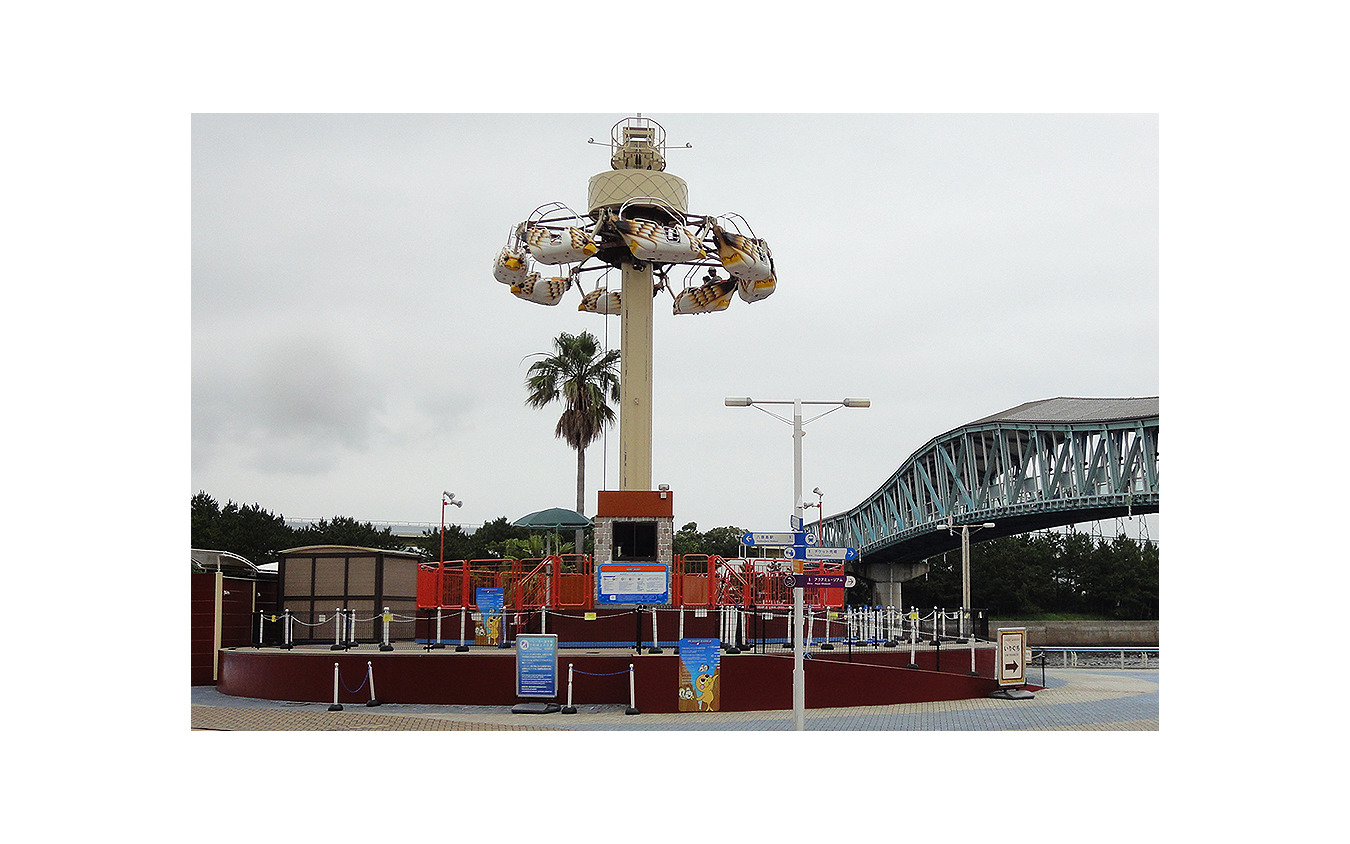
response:
[[[536,207],[585,211],[609,169],[587,140],[626,116],[196,115],[193,492],[435,523],[451,490],[466,525],[574,506],[560,408],[525,406],[525,370],[563,331],[617,347],[618,317],[575,289],[521,301],[491,262]],[[872,400],[806,428],[830,515],[975,419],[1158,394],[1154,115],[644,116],[690,211],[742,215],[778,267],[760,302],[656,304],[652,482],[676,525],[791,513],[791,427],[726,396]],[[616,466],[617,427],[587,515]]]

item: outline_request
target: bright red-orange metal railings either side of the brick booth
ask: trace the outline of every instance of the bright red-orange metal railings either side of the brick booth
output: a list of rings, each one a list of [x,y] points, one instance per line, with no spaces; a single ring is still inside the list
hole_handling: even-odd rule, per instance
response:
[[[794,567],[795,566],[795,567]],[[783,608],[792,605],[787,574],[844,574],[834,562],[726,559],[707,554],[678,555],[671,566],[671,606]],[[536,559],[478,559],[421,563],[417,608],[478,608],[479,589],[501,589],[509,610],[594,609],[595,564],[590,555],[563,554]],[[844,606],[845,589],[805,591],[805,605]]]

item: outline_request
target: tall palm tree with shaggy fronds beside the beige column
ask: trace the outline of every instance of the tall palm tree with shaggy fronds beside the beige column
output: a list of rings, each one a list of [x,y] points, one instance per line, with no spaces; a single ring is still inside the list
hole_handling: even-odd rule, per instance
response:
[[[554,433],[576,450],[576,512],[586,504],[586,446],[590,446],[614,421],[608,401],[618,401],[618,350],[601,352],[599,340],[589,331],[576,335],[566,331],[554,339],[555,352],[539,352],[543,361],[529,365],[525,404],[544,408],[562,400],[563,415]],[[599,357],[597,357],[599,354]],[[576,550],[586,537],[576,531]]]

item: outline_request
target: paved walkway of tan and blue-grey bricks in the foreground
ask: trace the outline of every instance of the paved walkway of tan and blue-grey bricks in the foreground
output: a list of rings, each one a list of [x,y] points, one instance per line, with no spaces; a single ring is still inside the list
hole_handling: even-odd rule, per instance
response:
[[[1040,681],[1034,668],[1029,679]],[[1156,731],[1157,670],[1049,668],[1033,700],[941,701],[806,710],[809,731]],[[576,714],[512,714],[509,706],[290,704],[192,687],[192,728],[224,731],[791,731],[791,710],[624,714],[622,705]]]

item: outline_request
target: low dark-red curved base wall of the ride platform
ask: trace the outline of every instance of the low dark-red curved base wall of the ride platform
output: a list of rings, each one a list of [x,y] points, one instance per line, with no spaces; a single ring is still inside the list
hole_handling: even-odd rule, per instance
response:
[[[976,677],[971,677],[971,652],[944,647],[941,654],[921,650],[918,668],[907,667],[910,651],[846,650],[815,652],[805,662],[806,708],[879,706],[963,701],[988,697],[998,690],[994,679],[995,648],[976,647]],[[363,685],[367,663],[375,679],[375,698],[385,704],[502,705],[513,706],[516,659],[512,651],[362,652],[327,650],[223,650],[221,694],[273,701],[332,702],[333,663],[339,666],[338,702],[362,705],[370,700]],[[574,667],[572,704],[628,704],[628,666],[633,666],[636,704],[640,712],[679,712],[679,656],[610,651],[568,654],[558,660],[556,704],[567,704],[567,667]],[[936,670],[941,668],[941,670]],[[724,654],[721,659],[721,712],[756,712],[792,708],[792,656],[778,654]],[[1029,686],[1035,689],[1035,686]],[[352,691],[354,690],[354,691]],[[529,698],[541,700],[541,698]]]

